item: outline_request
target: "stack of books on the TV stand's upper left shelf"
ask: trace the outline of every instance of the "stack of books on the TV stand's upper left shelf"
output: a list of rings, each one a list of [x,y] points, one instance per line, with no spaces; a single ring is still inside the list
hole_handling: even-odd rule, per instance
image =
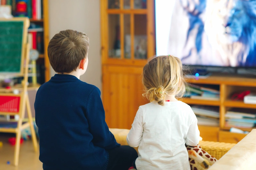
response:
[[[220,100],[219,86],[193,85],[186,87],[184,97],[200,100]]]

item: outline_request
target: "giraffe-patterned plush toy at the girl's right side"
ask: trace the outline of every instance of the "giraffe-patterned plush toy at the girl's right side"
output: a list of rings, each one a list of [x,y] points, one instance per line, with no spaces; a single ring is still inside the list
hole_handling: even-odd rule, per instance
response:
[[[212,166],[217,160],[209,153],[205,152],[201,146],[188,146],[188,158],[191,170],[205,170]]]

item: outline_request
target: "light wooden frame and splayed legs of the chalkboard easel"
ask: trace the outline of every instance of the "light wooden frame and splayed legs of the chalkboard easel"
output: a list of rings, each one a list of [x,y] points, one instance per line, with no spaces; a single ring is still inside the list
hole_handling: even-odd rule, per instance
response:
[[[12,20],[18,20],[20,21],[20,18],[14,18]],[[32,113],[30,109],[30,103],[28,99],[28,63],[29,63],[29,44],[26,43],[27,39],[27,33],[28,33],[28,26],[29,26],[29,20],[28,18],[24,19],[24,25],[27,25],[26,29],[23,31],[25,34],[23,34],[23,45],[22,45],[22,51],[23,51],[23,62],[22,62],[22,68],[24,68],[23,76],[23,88],[22,92],[19,95],[13,95],[13,94],[8,94],[8,93],[0,93],[2,96],[20,96],[20,109],[19,112],[17,113],[6,113],[6,112],[0,112],[0,115],[19,115],[19,120],[17,122],[17,127],[16,128],[0,128],[0,132],[4,133],[16,133],[16,143],[15,143],[15,150],[14,150],[14,165],[18,166],[19,163],[19,153],[20,153],[20,138],[21,138],[21,130],[30,127],[31,130],[31,137],[34,145],[34,150],[35,152],[38,151],[38,145],[37,145],[37,140],[36,140],[36,133],[34,129],[34,124],[33,124],[33,119],[32,119]],[[23,67],[25,63],[25,67]],[[28,112],[28,122],[23,123],[23,119],[25,116],[25,109],[27,108]]]

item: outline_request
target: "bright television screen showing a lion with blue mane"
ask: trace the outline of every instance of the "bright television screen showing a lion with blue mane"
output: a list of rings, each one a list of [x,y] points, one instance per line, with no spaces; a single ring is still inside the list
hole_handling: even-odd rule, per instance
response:
[[[256,0],[156,0],[156,55],[256,67]]]

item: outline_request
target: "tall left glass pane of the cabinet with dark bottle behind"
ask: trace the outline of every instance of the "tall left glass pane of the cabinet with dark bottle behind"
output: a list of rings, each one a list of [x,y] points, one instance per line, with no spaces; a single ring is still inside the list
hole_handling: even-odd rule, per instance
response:
[[[110,58],[121,57],[119,14],[108,15],[108,56]]]

